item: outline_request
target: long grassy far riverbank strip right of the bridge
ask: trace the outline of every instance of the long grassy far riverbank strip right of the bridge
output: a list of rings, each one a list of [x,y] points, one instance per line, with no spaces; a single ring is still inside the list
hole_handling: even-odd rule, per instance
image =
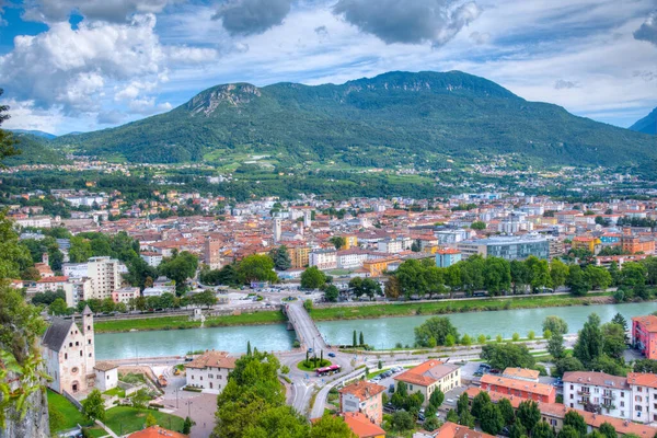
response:
[[[420,314],[443,314],[461,312],[484,312],[493,310],[552,308],[583,306],[593,297],[607,297],[611,292],[589,293],[587,297],[566,295],[539,296],[527,298],[485,298],[481,300],[442,300],[435,302],[388,303],[344,308],[313,308],[310,315],[315,321],[357,320],[384,316],[412,316]]]

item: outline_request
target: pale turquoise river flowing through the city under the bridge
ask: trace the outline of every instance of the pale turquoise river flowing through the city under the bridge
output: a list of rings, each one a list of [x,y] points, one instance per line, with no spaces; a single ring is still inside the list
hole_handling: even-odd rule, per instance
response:
[[[447,316],[459,333],[473,338],[480,334],[526,337],[530,330],[542,334],[541,324],[548,315],[558,315],[568,323],[568,332],[580,330],[592,312],[602,322],[620,312],[630,322],[632,316],[657,311],[657,302],[630,304],[577,306],[548,309],[516,309],[495,312],[452,313]],[[326,321],[316,325],[328,344],[351,344],[354,331],[362,332],[365,342],[377,349],[394,347],[396,343],[413,345],[413,328],[431,315],[381,318],[377,320]],[[152,332],[107,333],[96,335],[96,358],[124,359],[130,357],[177,356],[196,349],[221,349],[230,353],[246,351],[246,342],[258,349],[287,350],[295,336],[284,324],[246,325],[234,327],[191,328]]]

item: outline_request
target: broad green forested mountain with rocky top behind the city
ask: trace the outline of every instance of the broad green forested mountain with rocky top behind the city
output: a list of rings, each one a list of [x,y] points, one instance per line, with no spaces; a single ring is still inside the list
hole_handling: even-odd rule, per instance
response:
[[[53,142],[131,162],[235,164],[261,155],[281,170],[435,168],[508,153],[535,164],[614,165],[657,153],[649,136],[459,71],[395,71],[341,85],[217,85],[169,113]]]

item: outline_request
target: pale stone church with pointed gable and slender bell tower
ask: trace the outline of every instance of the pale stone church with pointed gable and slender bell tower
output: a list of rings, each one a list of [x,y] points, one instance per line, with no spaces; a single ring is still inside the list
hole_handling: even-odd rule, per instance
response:
[[[42,339],[42,356],[51,390],[69,394],[84,392],[95,384],[95,344],[93,313],[82,312],[82,324],[74,319],[53,318]]]

